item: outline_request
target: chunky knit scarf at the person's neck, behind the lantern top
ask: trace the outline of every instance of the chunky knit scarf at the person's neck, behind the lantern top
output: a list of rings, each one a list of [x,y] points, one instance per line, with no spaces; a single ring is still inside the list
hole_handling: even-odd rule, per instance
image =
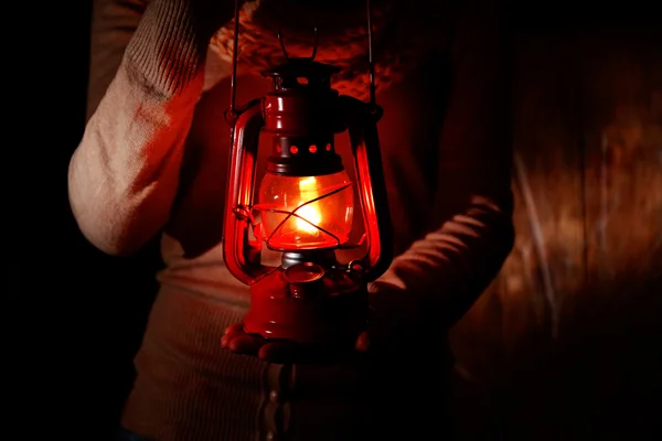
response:
[[[430,2],[427,7],[421,3]],[[442,46],[448,36],[439,0],[373,1],[373,60],[377,90],[401,82],[409,72]],[[310,56],[340,67],[332,79],[341,94],[360,99],[369,95],[367,17],[365,1],[261,0],[244,3],[239,11],[238,63],[259,73],[286,61],[278,32],[289,57]],[[222,28],[211,44],[222,60],[232,62],[234,20]]]

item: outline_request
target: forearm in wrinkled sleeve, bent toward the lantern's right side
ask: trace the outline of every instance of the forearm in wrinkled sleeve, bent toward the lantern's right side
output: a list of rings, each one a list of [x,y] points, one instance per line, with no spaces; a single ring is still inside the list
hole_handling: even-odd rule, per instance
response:
[[[373,284],[373,306],[406,324],[450,326],[496,276],[514,241],[512,212],[484,197],[415,241]],[[388,291],[386,294],[384,292]],[[380,298],[380,294],[384,299]],[[393,303],[394,299],[395,303]]]

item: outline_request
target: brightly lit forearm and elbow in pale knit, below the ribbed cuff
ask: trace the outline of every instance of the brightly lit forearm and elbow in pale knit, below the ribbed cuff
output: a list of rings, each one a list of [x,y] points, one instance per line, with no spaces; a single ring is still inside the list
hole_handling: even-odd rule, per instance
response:
[[[74,216],[103,251],[134,252],[164,225],[194,103],[185,95],[164,103],[118,71],[68,173]]]

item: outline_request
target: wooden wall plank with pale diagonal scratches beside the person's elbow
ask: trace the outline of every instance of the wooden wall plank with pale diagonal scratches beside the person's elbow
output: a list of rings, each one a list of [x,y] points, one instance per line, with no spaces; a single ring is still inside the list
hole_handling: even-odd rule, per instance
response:
[[[469,438],[477,430],[536,433],[548,412],[527,399],[549,390],[532,373],[545,364],[560,306],[584,278],[578,53],[570,37],[533,32],[517,35],[514,49],[515,246],[451,334],[471,377],[458,390],[471,416],[462,424]],[[478,417],[477,402],[484,406]]]

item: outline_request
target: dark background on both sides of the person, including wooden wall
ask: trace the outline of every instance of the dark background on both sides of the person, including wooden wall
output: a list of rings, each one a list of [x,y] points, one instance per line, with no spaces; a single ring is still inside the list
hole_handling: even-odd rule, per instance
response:
[[[89,51],[90,2],[76,3],[12,15],[33,19],[19,21],[21,44],[8,44],[4,56],[12,76],[4,82],[12,101],[4,427],[35,439],[102,440],[94,433],[117,423],[160,265],[154,244],[131,258],[97,251],[68,208]],[[502,275],[453,330],[462,433],[654,439],[660,21],[643,1],[513,0],[510,9],[519,238]]]

